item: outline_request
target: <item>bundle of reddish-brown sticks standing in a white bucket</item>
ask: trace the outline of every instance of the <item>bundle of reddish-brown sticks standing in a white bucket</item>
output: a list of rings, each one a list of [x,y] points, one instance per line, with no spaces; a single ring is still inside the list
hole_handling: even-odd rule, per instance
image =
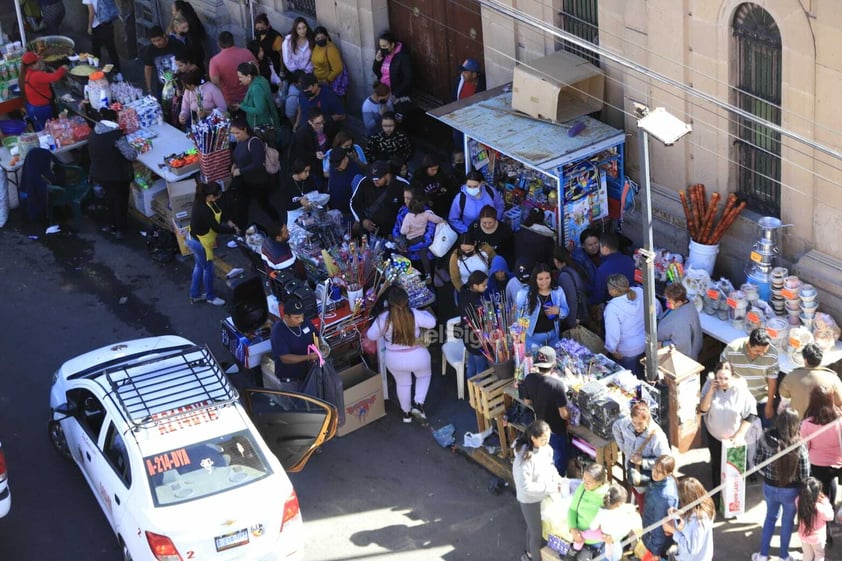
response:
[[[705,186],[697,183],[688,187],[686,191],[681,191],[678,196],[681,198],[681,207],[684,209],[690,237],[693,241],[705,245],[718,244],[746,207],[745,201],[738,202],[737,195],[730,193],[717,221],[716,215],[722,199],[719,193],[711,195],[710,203],[708,203]]]

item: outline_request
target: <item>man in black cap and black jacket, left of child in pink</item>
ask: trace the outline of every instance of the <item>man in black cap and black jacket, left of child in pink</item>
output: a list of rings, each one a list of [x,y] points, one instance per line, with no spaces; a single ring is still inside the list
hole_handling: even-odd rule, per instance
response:
[[[389,162],[374,162],[368,177],[354,187],[351,195],[354,220],[367,232],[379,230],[387,235],[395,225],[408,186],[406,179],[392,173]]]

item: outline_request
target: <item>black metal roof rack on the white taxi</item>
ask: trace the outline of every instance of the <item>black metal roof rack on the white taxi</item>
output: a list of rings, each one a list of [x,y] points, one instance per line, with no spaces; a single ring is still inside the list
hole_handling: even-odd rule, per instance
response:
[[[239,394],[206,346],[174,349],[105,371],[126,420],[135,428],[224,407]]]

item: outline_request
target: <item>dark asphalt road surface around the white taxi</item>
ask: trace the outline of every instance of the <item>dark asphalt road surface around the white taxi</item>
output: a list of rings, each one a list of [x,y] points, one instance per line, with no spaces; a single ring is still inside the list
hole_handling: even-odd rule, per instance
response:
[[[230,360],[219,342],[225,312],[188,304],[192,263],[152,262],[136,228],[118,243],[87,217],[83,233],[50,237],[20,220],[13,211],[0,229],[0,440],[13,498],[0,520],[0,559],[116,560],[93,494],[47,439],[50,377],[87,350],[166,333]],[[451,402],[447,411],[451,382],[434,376],[431,394]],[[431,424],[450,422],[434,403]],[[429,429],[402,424],[394,405],[387,412],[292,474],[305,520],[302,560],[518,559],[524,523],[514,497],[489,494],[486,471],[440,448]]]

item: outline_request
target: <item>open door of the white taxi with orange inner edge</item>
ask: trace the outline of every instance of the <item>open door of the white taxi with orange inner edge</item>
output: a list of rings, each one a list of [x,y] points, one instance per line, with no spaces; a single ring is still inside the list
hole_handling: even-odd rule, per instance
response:
[[[243,395],[252,422],[288,472],[301,471],[316,449],[336,435],[336,407],[326,401],[254,388]]]

